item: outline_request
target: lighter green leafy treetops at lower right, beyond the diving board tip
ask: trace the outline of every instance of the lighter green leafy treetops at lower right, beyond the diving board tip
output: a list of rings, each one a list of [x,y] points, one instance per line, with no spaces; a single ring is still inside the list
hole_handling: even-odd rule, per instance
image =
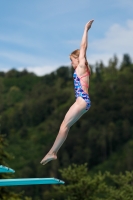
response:
[[[72,164],[59,170],[65,185],[54,186],[56,198],[64,200],[132,200],[133,171],[89,175],[87,164]]]

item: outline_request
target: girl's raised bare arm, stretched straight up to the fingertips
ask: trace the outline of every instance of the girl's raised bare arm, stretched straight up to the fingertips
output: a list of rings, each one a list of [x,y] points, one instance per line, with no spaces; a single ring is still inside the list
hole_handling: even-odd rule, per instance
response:
[[[91,28],[91,25],[94,20],[89,21],[84,28],[84,33],[82,36],[81,40],[81,45],[80,45],[80,54],[79,54],[79,65],[80,66],[85,66],[85,57],[86,57],[86,50],[88,46],[88,30]]]

